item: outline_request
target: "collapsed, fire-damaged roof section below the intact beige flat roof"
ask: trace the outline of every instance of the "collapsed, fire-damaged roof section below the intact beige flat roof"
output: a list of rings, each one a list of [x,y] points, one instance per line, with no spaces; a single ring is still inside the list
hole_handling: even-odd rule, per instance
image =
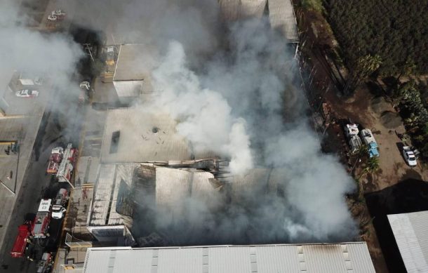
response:
[[[207,163],[195,162],[190,168],[102,164],[88,218],[89,232],[98,241],[132,246],[135,231],[147,237],[156,232],[156,225],[180,225],[187,220],[189,200],[203,203],[210,211],[218,209],[222,183],[212,173],[192,168],[198,164]],[[134,218],[140,220],[137,227],[133,227]]]

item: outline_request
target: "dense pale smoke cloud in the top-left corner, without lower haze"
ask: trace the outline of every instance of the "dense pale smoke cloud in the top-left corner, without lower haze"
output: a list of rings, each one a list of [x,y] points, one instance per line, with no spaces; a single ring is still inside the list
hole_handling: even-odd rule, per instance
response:
[[[58,88],[74,73],[81,49],[68,36],[42,34],[26,27],[29,18],[18,13],[15,1],[3,0],[0,6],[1,88],[11,80],[11,71],[48,77]]]

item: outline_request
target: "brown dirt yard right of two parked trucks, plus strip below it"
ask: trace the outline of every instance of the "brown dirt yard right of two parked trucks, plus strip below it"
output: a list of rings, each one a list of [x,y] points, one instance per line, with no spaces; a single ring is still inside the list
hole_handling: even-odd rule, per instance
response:
[[[337,118],[350,118],[363,127],[370,128],[379,145],[380,170],[377,173],[373,173],[373,175],[365,175],[360,179],[359,182],[363,189],[363,194],[377,192],[408,178],[428,181],[428,171],[422,169],[421,164],[418,164],[415,168],[410,168],[401,156],[401,139],[397,134],[405,132],[403,124],[395,128],[386,128],[382,124],[380,119],[382,112],[394,112],[393,107],[384,104],[382,112],[377,112],[371,105],[373,98],[375,96],[366,87],[359,89],[354,98],[349,100],[342,100],[334,94],[326,98],[326,101],[331,104]],[[361,168],[356,172],[356,176],[359,176],[359,172],[361,172]],[[365,201],[356,202],[349,200],[348,204],[354,218],[359,220],[361,239],[368,244],[376,272],[388,272]]]

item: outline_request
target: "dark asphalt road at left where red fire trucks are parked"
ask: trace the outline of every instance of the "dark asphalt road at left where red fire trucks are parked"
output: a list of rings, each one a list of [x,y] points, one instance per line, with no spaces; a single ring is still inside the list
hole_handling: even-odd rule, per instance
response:
[[[52,101],[54,103],[55,98]],[[47,111],[48,109],[49,107],[46,107]],[[7,227],[4,247],[0,250],[0,272],[36,272],[37,260],[41,258],[43,252],[55,251],[58,245],[58,239],[61,234],[61,220],[51,220],[49,225],[51,237],[48,240],[39,241],[38,244],[34,244],[31,248],[36,257],[33,262],[25,258],[12,258],[9,254],[18,234],[18,226],[24,222],[26,215],[28,213],[36,213],[41,199],[55,198],[60,187],[69,188],[68,183],[56,182],[51,175],[46,174],[48,159],[53,147],[68,142],[76,145],[79,142],[76,135],[79,135],[78,132],[81,127],[79,116],[83,113],[79,112],[78,106],[74,104],[69,104],[67,112],[74,112],[72,119],[67,119],[67,116],[58,114],[58,112],[46,112],[46,116],[44,116],[34,144],[32,161],[25,173],[22,188],[13,209],[11,222]],[[72,135],[63,135],[67,131],[74,133]]]

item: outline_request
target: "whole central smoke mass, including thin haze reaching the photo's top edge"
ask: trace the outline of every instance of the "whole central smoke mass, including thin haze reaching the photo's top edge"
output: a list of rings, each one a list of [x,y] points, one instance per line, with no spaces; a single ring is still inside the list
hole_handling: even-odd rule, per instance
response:
[[[305,114],[293,53],[266,18],[220,22],[215,0],[83,5],[81,22],[107,30],[112,43],[158,48],[161,57],[150,62],[152,67],[141,64],[152,71],[155,94],[141,108],[168,112],[194,149],[228,157],[232,173],[244,181],[239,192],[218,198],[222,206],[217,211],[206,199],[189,197],[177,204],[185,206],[183,215],[155,213],[157,231],[173,244],[354,237],[356,227],[345,204],[345,194],[354,190],[352,178],[334,156],[321,153]],[[100,18],[94,14],[113,22],[95,20]],[[245,185],[248,173],[262,168],[283,171],[274,193],[262,186],[262,179]]]

